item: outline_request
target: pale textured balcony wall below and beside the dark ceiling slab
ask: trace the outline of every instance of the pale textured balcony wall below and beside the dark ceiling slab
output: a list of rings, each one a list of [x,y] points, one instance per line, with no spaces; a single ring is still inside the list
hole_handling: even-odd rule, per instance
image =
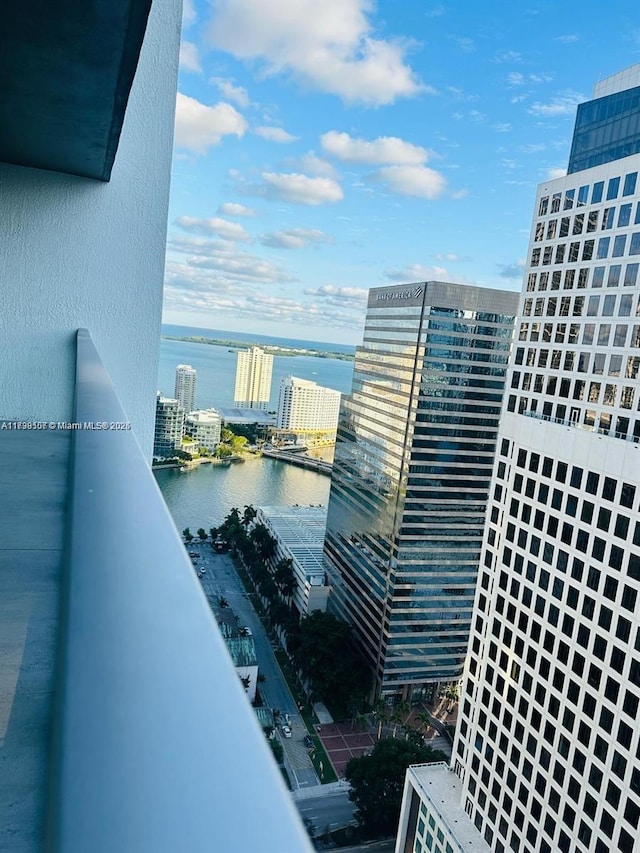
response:
[[[89,329],[151,458],[181,0],[155,0],[111,181],[0,164],[0,418],[70,420]]]

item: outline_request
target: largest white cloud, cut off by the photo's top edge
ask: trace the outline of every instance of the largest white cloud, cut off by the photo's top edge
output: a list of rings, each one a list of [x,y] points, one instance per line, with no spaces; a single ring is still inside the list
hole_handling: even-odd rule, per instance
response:
[[[268,74],[368,106],[412,97],[425,87],[405,62],[408,43],[371,36],[371,0],[213,0],[212,46]]]

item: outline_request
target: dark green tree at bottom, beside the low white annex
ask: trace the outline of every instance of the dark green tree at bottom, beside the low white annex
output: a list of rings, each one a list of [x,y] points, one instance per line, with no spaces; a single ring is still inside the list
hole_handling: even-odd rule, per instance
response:
[[[345,770],[351,784],[349,799],[356,805],[356,819],[366,838],[396,832],[407,767],[433,761],[446,761],[446,756],[393,738],[378,741],[369,755],[349,760]]]

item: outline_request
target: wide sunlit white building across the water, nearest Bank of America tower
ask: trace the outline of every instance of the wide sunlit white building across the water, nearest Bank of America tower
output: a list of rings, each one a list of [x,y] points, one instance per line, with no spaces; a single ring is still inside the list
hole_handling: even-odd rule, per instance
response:
[[[286,376],[280,383],[278,429],[297,434],[325,433],[335,438],[340,397],[333,388]]]

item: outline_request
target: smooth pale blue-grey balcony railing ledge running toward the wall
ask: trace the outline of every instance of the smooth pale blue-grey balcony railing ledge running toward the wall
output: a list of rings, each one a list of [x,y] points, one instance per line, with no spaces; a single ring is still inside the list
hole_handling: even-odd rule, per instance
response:
[[[74,419],[47,849],[310,850],[86,330]]]

